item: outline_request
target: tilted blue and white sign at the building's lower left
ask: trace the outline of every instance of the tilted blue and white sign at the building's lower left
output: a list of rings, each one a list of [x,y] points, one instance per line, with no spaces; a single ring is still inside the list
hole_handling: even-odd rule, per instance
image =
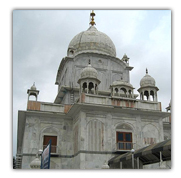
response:
[[[52,140],[49,141],[48,145],[43,150],[43,153],[41,155],[41,169],[50,169],[51,143]]]

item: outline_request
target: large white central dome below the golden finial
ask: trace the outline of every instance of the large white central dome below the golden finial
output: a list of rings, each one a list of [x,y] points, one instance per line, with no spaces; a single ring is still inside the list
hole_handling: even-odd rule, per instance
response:
[[[94,26],[90,26],[88,30],[77,34],[69,44],[68,55],[70,53],[76,55],[83,52],[116,56],[116,49],[112,40]]]

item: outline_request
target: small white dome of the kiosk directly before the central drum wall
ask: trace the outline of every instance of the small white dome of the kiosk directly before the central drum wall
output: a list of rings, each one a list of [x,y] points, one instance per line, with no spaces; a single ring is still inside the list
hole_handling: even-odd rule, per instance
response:
[[[85,67],[81,72],[81,79],[83,78],[96,78],[97,79],[97,70],[94,69],[90,64]]]

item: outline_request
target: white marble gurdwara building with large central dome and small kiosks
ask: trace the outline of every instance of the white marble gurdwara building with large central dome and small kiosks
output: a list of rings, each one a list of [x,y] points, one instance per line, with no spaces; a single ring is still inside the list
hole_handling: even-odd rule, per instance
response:
[[[37,153],[50,139],[51,169],[132,168],[127,158],[133,149],[137,168],[159,162],[161,153],[163,162],[171,159],[170,113],[162,112],[155,79],[145,69],[134,94],[128,56],[116,56],[94,16],[92,11],[90,27],[70,41],[60,62],[54,103],[38,101],[35,84],[27,90],[27,110],[18,112],[17,168],[39,168]],[[157,143],[162,149],[153,152]],[[146,158],[141,150],[148,147]]]

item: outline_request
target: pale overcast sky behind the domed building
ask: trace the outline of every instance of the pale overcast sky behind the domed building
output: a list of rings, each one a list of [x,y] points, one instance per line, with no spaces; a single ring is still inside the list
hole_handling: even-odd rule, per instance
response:
[[[171,99],[171,11],[95,10],[96,28],[107,34],[117,57],[126,53],[130,83],[138,94],[146,68],[159,88],[162,110]],[[53,102],[59,64],[72,38],[89,27],[90,10],[13,11],[13,155],[16,154],[18,110],[26,110],[27,89],[40,90],[38,100]]]

